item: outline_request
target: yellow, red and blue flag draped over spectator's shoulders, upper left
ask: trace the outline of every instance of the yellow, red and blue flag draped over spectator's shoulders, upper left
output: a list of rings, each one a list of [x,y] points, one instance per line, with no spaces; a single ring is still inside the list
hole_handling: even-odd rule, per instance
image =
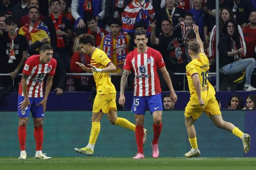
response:
[[[48,27],[41,21],[37,21],[30,32],[29,28],[29,24],[26,23],[26,25],[19,30],[20,35],[26,36],[29,45],[40,41],[42,38],[50,37]],[[48,42],[50,42],[50,40],[48,40]]]

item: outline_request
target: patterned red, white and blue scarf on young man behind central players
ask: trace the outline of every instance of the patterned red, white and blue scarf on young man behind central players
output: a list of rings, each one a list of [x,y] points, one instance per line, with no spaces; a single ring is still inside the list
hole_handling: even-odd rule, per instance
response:
[[[113,39],[114,38],[111,33],[104,37],[103,51],[108,55],[110,60],[112,59],[113,55],[116,55],[117,67],[122,68],[126,55],[128,54],[127,38],[122,32],[119,32],[117,39],[115,40],[115,49],[113,47]]]

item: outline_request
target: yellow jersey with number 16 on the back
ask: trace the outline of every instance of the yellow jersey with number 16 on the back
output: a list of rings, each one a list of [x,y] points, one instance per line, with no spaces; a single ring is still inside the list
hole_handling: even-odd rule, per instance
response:
[[[189,92],[190,92],[190,101],[192,104],[197,105],[200,104],[197,93],[195,91],[195,86],[193,83],[192,76],[194,74],[198,74],[200,84],[202,85],[201,89],[201,98],[204,102],[210,100],[213,96],[215,96],[215,89],[208,82],[208,72],[209,72],[209,60],[206,57],[205,53],[200,52],[200,58],[192,60],[186,66],[186,74],[189,83]]]

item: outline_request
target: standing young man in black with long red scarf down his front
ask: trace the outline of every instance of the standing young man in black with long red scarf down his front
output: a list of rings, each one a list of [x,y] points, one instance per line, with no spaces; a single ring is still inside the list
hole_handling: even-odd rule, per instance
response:
[[[67,44],[68,39],[72,39],[72,26],[67,18],[62,17],[61,2],[59,0],[51,0],[50,8],[52,13],[43,22],[46,23],[50,31],[51,46],[59,53],[63,60],[66,71],[69,72],[69,46]]]

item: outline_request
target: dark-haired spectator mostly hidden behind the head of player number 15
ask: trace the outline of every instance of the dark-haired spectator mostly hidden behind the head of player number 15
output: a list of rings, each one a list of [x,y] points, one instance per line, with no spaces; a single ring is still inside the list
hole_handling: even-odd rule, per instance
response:
[[[147,23],[144,22],[144,21],[141,21],[141,22],[136,22],[135,25],[134,25],[134,29],[135,29],[135,32],[136,31],[144,31],[144,32],[147,32]],[[147,43],[147,46],[148,47],[152,47],[152,44],[151,44],[151,41],[150,41],[150,38],[148,38],[148,43]],[[131,39],[130,39],[130,43],[129,43],[129,51],[132,51],[134,49],[137,48],[137,45],[135,44],[134,42],[134,34],[131,35]]]

